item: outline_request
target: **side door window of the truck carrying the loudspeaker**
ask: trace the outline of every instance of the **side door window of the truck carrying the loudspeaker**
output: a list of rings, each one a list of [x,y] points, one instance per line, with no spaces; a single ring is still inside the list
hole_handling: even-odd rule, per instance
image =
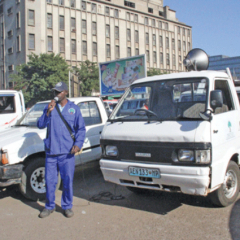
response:
[[[234,110],[234,105],[232,101],[232,94],[226,80],[216,80],[215,81],[215,90],[221,90],[223,96],[223,106],[215,110],[215,114],[228,112]]]

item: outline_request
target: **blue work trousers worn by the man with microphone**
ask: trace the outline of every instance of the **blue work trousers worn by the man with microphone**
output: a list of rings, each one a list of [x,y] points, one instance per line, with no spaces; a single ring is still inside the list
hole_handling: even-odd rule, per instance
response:
[[[63,183],[62,209],[72,208],[74,170],[75,156],[73,154],[47,155],[45,162],[46,209],[55,208],[55,190],[59,172]]]

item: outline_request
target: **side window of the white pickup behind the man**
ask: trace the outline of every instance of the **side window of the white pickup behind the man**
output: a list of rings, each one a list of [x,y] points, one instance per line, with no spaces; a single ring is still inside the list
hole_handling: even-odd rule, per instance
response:
[[[86,126],[102,123],[98,106],[95,101],[78,103]]]

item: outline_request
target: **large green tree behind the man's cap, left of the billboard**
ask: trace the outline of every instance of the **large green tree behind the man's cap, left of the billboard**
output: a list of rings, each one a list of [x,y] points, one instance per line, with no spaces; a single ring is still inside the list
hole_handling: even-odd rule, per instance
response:
[[[27,64],[17,66],[10,76],[14,89],[22,90],[28,106],[53,97],[51,89],[58,82],[68,82],[69,66],[58,54],[32,53]]]

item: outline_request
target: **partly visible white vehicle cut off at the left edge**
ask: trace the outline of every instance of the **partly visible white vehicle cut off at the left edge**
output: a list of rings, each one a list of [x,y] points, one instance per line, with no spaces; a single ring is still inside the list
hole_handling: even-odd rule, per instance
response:
[[[16,124],[24,113],[22,91],[0,90],[0,131]]]

